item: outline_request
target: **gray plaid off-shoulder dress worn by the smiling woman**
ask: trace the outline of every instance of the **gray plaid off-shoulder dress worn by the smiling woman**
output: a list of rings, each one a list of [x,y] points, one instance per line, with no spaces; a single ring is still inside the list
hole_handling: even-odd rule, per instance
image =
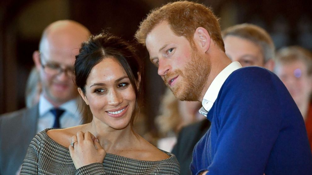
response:
[[[76,170],[68,148],[58,144],[41,131],[31,141],[20,174],[180,174],[175,156],[161,161],[140,161],[106,153],[103,164],[93,163]]]

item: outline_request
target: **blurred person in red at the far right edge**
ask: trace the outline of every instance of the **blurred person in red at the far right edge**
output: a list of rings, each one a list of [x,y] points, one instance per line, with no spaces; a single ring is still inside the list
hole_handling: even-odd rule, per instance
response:
[[[299,46],[282,48],[276,54],[274,72],[287,87],[304,118],[312,150],[312,53]]]

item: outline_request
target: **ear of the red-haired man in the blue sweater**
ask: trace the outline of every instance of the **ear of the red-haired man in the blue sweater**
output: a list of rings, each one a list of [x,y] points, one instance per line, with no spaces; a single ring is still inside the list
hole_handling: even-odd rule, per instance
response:
[[[203,27],[198,27],[194,33],[194,42],[198,50],[206,52],[210,47],[210,35]]]

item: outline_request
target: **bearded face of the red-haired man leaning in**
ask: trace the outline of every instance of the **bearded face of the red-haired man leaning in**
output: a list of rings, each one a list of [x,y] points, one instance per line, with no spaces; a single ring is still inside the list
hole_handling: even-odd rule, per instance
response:
[[[146,38],[150,60],[158,74],[179,100],[196,101],[207,81],[211,65],[183,36],[166,23],[158,24]]]

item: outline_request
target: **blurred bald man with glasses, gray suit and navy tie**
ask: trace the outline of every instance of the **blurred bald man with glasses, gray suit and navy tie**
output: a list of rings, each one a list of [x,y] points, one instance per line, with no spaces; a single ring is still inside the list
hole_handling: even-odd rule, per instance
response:
[[[33,60],[40,72],[39,103],[0,117],[0,174],[15,174],[36,133],[46,128],[81,124],[77,89],[73,82],[75,55],[90,31],[75,21],[61,20],[47,26]]]

